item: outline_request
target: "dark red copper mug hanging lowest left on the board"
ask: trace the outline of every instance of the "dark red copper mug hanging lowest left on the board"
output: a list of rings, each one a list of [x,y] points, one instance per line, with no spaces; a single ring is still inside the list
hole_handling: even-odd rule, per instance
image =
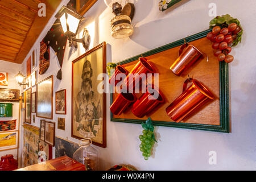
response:
[[[124,93],[122,89],[121,93],[118,94],[117,98],[115,98],[114,102],[110,106],[110,111],[115,115],[120,115],[136,100],[137,97],[134,93],[128,93],[128,91]]]

